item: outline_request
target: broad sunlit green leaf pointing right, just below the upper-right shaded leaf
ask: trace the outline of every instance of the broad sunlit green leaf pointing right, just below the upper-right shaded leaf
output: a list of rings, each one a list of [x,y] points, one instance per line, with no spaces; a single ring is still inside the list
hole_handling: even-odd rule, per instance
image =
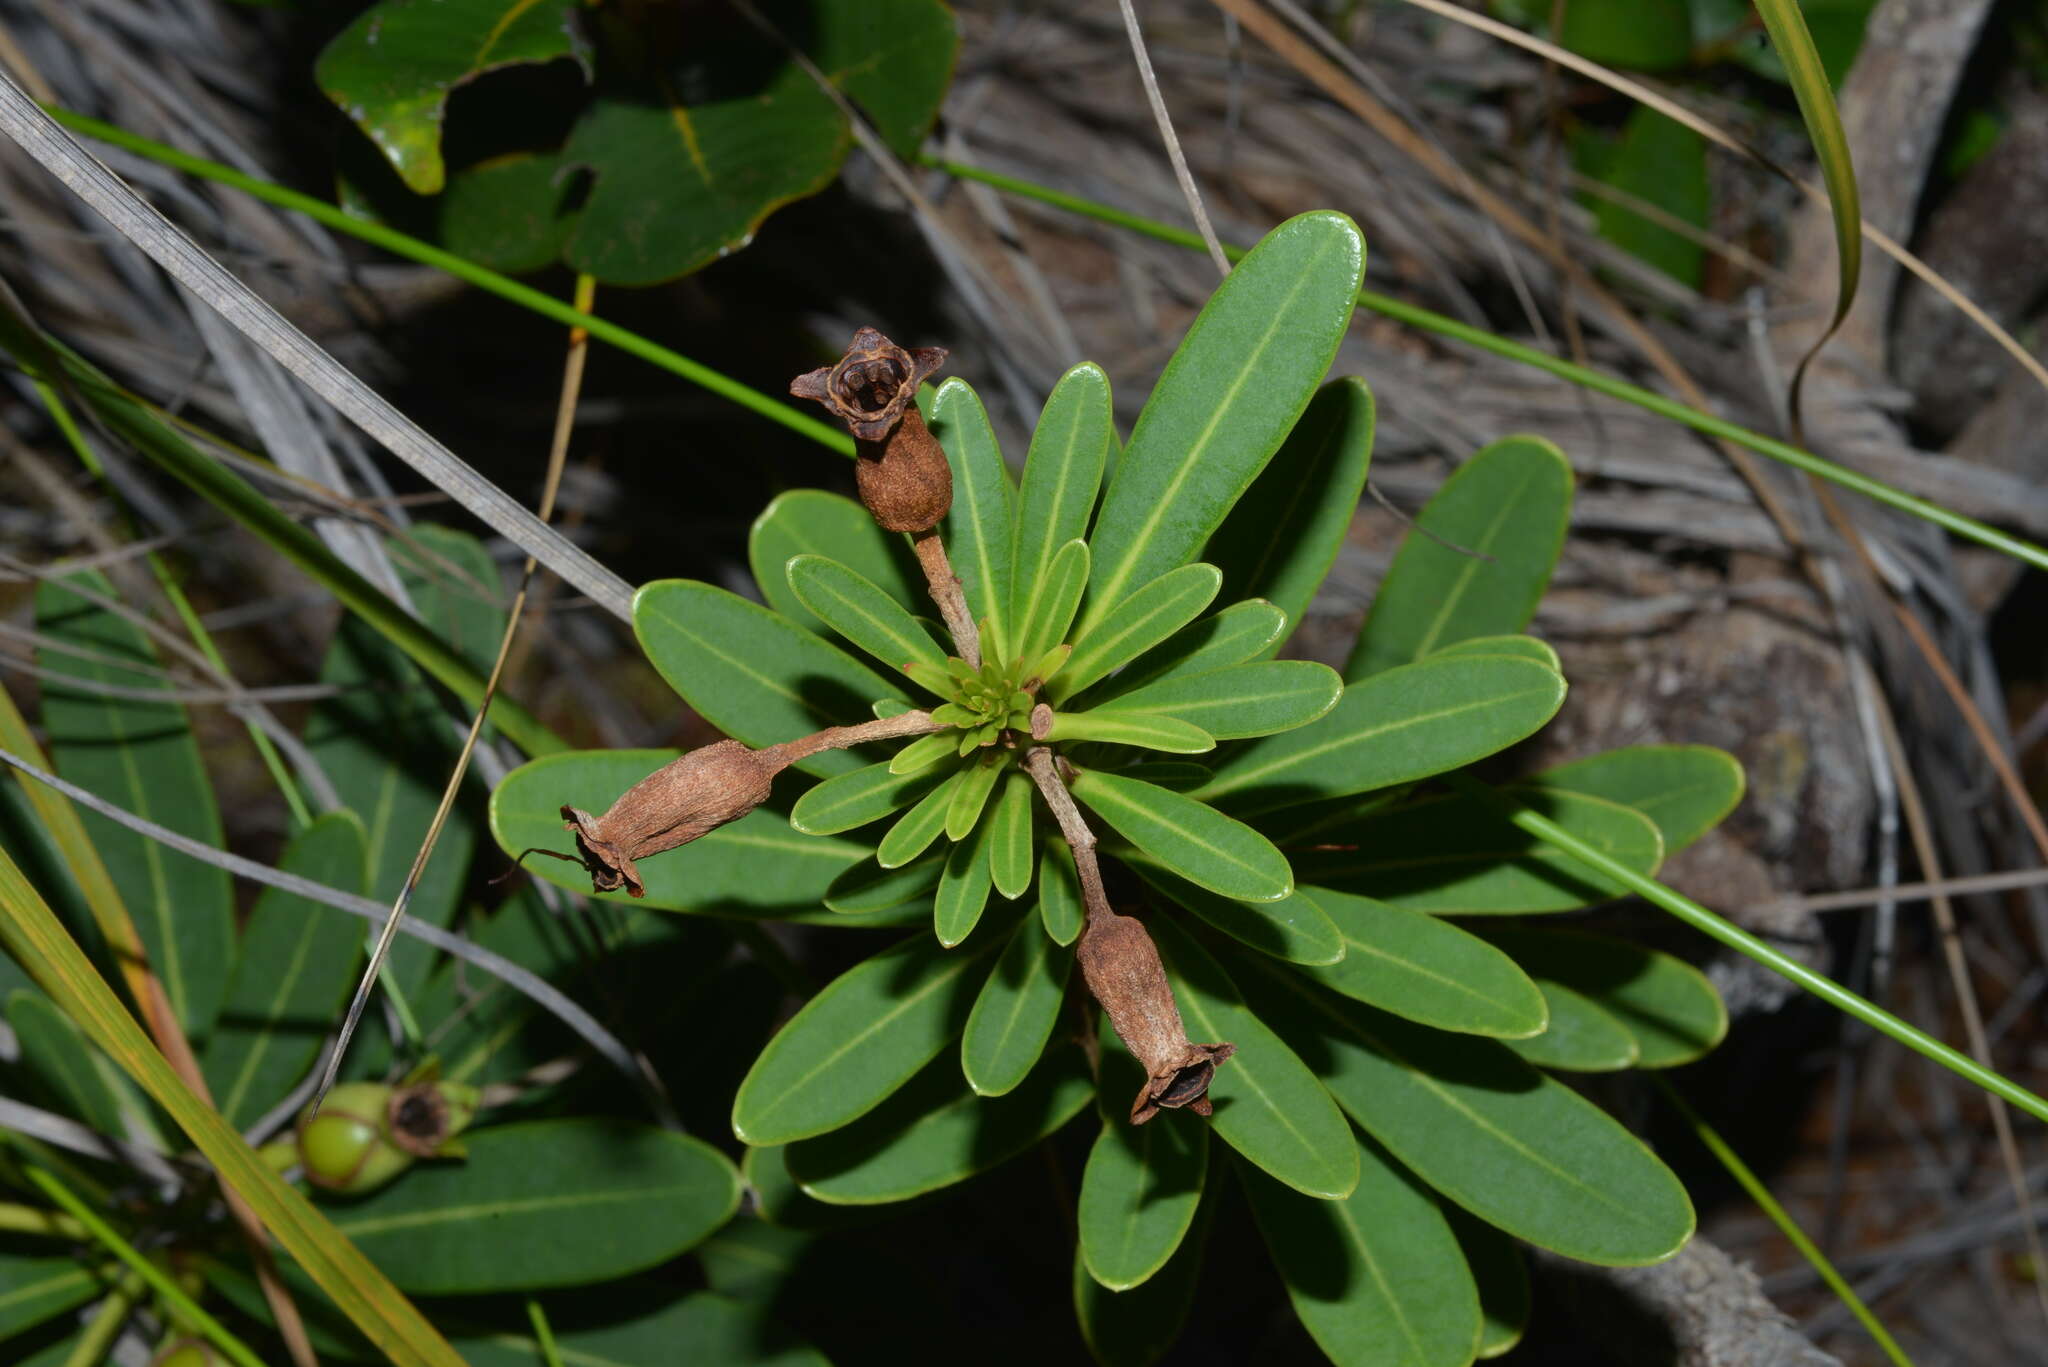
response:
[[[1239,746],[1196,795],[1272,812],[1470,764],[1534,734],[1565,678],[1530,660],[1423,660],[1354,682],[1319,721]]]

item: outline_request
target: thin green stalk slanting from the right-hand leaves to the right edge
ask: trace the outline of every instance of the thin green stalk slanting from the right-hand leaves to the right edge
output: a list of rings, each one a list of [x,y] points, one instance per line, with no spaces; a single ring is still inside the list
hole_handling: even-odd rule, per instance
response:
[[[1849,992],[1847,988],[1843,988],[1833,978],[1825,978],[1823,974],[1815,974],[1804,963],[1778,953],[1776,949],[1772,949],[1769,945],[1765,945],[1757,937],[1749,935],[1741,926],[1735,926],[1735,924],[1722,920],[1720,916],[1716,916],[1714,912],[1706,910],[1704,906],[1700,906],[1698,902],[1694,902],[1686,894],[1675,892],[1671,887],[1665,887],[1663,883],[1659,883],[1653,877],[1645,877],[1645,875],[1636,873],[1628,865],[1624,865],[1624,863],[1620,863],[1620,861],[1604,855],[1602,851],[1593,848],[1591,844],[1587,844],[1579,836],[1571,834],[1569,830],[1565,830],[1556,822],[1552,822],[1552,820],[1548,820],[1548,818],[1544,818],[1544,816],[1540,816],[1540,814],[1524,807],[1522,803],[1518,803],[1511,797],[1505,797],[1505,795],[1493,791],[1485,783],[1479,783],[1477,779],[1473,779],[1468,775],[1462,775],[1462,773],[1444,775],[1444,779],[1446,779],[1446,783],[1450,783],[1452,787],[1456,787],[1460,793],[1468,793],[1473,797],[1479,797],[1487,805],[1499,810],[1501,816],[1505,816],[1509,822],[1513,822],[1518,830],[1524,830],[1524,832],[1536,836],[1538,840],[1565,851],[1567,855],[1571,855],[1579,863],[1589,865],[1589,867],[1606,873],[1616,883],[1628,887],[1628,892],[1636,894],[1638,898],[1645,898],[1647,902],[1655,902],[1659,908],[1671,912],[1673,916],[1677,916],[1679,920],[1683,920],[1694,930],[1700,930],[1702,935],[1708,935],[1708,937],[1720,941],[1729,949],[1735,949],[1735,951],[1739,951],[1743,955],[1749,955],[1751,959],[1755,959],[1763,967],[1772,969],[1774,974],[1780,974],[1782,978],[1790,978],[1794,984],[1798,984],[1806,992],[1812,992],[1815,996],[1819,996],[1823,1002],[1827,1002],[1835,1010],[1841,1010],[1841,1012],[1847,1012],[1847,1014],[1855,1017],[1858,1021],[1862,1021],[1870,1029],[1880,1031],[1884,1035],[1890,1035],[1892,1039],[1896,1039],[1905,1047],[1913,1049],[1915,1053],[1921,1053],[1923,1058],[1929,1058],[1935,1064],[1942,1064],[1950,1072],[1954,1072],[1954,1074],[1958,1074],[1962,1078],[1968,1078],[1970,1082],[1974,1082],[1976,1086],[1985,1088],[1987,1092],[2003,1096],[2005,1101],[2013,1103],[2015,1107],[2019,1107],[2021,1111],[2025,1111],[2034,1119],[2048,1121],[2048,1101],[2042,1101],[2040,1096],[2036,1096],[2028,1088],[2019,1086],[2017,1082],[2011,1082],[2011,1080],[1999,1076],[1997,1072],[1985,1068],[1982,1064],[1978,1064],[1968,1053],[1960,1053],[1958,1049],[1950,1049],[1946,1043],[1942,1043],[1933,1035],[1925,1035],[1925,1033],[1913,1029],[1911,1025],[1907,1025],[1905,1021],[1901,1021],[1892,1012],[1884,1010],[1882,1006],[1878,1006],[1874,1002],[1868,1002],[1868,1000],[1860,998],[1858,994]]]

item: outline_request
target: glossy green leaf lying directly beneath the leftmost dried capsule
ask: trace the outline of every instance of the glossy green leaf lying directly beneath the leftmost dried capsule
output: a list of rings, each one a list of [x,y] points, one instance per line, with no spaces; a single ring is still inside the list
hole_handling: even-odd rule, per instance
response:
[[[520,764],[492,793],[492,834],[512,857],[537,846],[569,851],[563,805],[602,814],[621,793],[674,758],[674,750],[578,750]],[[831,881],[866,855],[868,848],[852,840],[795,832],[786,818],[764,807],[682,848],[639,861],[647,883],[647,898],[639,906],[698,916],[856,924],[819,904]],[[590,894],[590,875],[573,863],[537,857],[526,867],[557,887]],[[625,892],[598,896],[631,904]],[[895,920],[885,912],[881,924]]]

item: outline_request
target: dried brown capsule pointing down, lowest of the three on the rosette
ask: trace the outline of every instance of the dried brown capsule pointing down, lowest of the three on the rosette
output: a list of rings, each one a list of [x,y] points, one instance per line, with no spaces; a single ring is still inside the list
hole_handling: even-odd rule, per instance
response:
[[[1143,1125],[1159,1111],[1180,1107],[1208,1115],[1208,1080],[1217,1074],[1217,1064],[1237,1053],[1237,1045],[1198,1045],[1188,1039],[1145,922],[1096,912],[1087,918],[1075,955],[1081,978],[1108,1012],[1116,1037],[1145,1066],[1145,1086],[1130,1103],[1130,1123]]]

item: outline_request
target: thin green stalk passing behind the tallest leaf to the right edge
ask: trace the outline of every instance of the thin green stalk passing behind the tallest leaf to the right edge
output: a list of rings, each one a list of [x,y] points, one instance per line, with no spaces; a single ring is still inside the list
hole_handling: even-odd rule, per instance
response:
[[[1065,209],[1067,213],[1077,213],[1081,217],[1096,219],[1098,223],[1110,223],[1114,227],[1128,227],[1135,234],[1153,238],[1155,242],[1169,242],[1194,252],[1206,250],[1202,240],[1192,232],[1174,227],[1171,223],[1161,223],[1157,219],[1143,217],[1139,213],[1126,213],[1110,205],[1083,199],[1079,195],[1069,195],[1065,191],[1055,191],[1044,184],[1034,184],[1030,180],[1018,180],[1016,176],[1006,176],[1001,172],[983,170],[981,166],[967,166],[965,162],[948,162],[942,158],[928,158],[928,166],[944,170],[961,180],[979,180],[1006,195],[1018,195],[1020,199],[1032,199],[1055,209]],[[1225,254],[1237,260],[1245,254],[1245,248],[1225,244]],[[1524,346],[1522,342],[1511,342],[1501,336],[1493,336],[1483,328],[1473,328],[1456,318],[1446,318],[1444,314],[1432,314],[1430,309],[1415,307],[1413,303],[1403,303],[1391,295],[1380,295],[1370,289],[1358,291],[1360,307],[1372,309],[1382,318],[1393,318],[1421,332],[1434,332],[1438,336],[1448,336],[1456,342],[1477,346],[1479,350],[1493,353],[1518,365],[1528,365],[1532,369],[1556,375],[1569,383],[1591,389],[1593,393],[1606,393],[1612,400],[1622,400],[1624,404],[1634,404],[1636,408],[1649,410],[1671,422],[1690,426],[1696,432],[1708,437],[1718,437],[1722,441],[1733,441],[1739,447],[1747,447],[1757,455],[1767,455],[1774,461],[1792,465],[1794,469],[1804,469],[1810,475],[1839,484],[1845,490],[1855,490],[1866,498],[1874,498],[1886,506],[1898,508],[1901,512],[1911,512],[1913,516],[1925,519],[1935,527],[1956,533],[1978,545],[1989,545],[1995,551],[2003,551],[2013,560],[2021,560],[2036,570],[2048,570],[2048,549],[2025,541],[2023,537],[2013,537],[1997,527],[1978,523],[1976,519],[1964,516],[1960,512],[1950,512],[1937,502],[1929,502],[1905,490],[1894,490],[1882,480],[1872,480],[1870,475],[1858,473],[1845,465],[1825,461],[1810,451],[1802,451],[1784,441],[1776,441],[1761,432],[1751,432],[1745,426],[1729,422],[1726,418],[1716,418],[1714,414],[1700,412],[1698,408],[1688,408],[1677,400],[1665,398],[1653,389],[1632,385],[1624,379],[1614,379],[1612,375],[1602,375],[1599,371],[1587,369],[1583,365],[1573,365],[1571,361],[1561,361],[1559,357],[1544,355],[1534,346]]]

